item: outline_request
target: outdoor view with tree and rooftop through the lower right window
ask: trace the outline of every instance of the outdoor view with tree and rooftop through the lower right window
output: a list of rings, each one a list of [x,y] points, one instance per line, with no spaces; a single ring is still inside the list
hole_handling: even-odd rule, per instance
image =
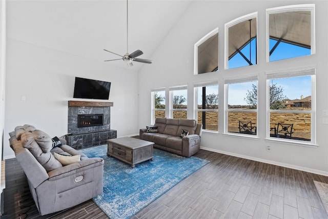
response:
[[[311,141],[311,76],[270,79],[270,136]]]

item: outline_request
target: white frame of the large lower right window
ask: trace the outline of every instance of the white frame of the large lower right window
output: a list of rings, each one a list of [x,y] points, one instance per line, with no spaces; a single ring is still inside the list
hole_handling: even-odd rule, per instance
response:
[[[304,68],[295,68],[295,69],[286,69],[279,71],[269,71],[265,72],[267,76],[267,137],[266,140],[275,141],[275,142],[288,142],[288,143],[297,143],[301,145],[312,145],[316,146],[316,67],[304,67]],[[300,77],[300,76],[311,76],[311,110],[289,110],[288,112],[292,113],[310,113],[311,114],[311,141],[302,141],[294,140],[288,138],[278,138],[270,136],[270,113],[279,112],[281,110],[271,110],[270,109],[270,80],[275,78],[288,78],[288,77]]]

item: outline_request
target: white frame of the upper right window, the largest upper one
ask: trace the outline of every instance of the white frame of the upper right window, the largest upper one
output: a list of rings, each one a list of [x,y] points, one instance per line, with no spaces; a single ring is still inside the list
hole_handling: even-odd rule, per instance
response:
[[[276,8],[265,9],[266,14],[266,26],[265,26],[265,41],[267,50],[267,63],[270,63],[270,34],[269,34],[269,15],[283,12],[293,12],[293,11],[310,11],[311,12],[311,55],[315,54],[315,4],[303,4],[303,5],[289,5],[281,6]],[[298,56],[303,57],[303,56]],[[286,58],[288,59],[288,58]],[[282,61],[285,59],[280,59],[277,61]],[[274,62],[277,62],[274,61]]]

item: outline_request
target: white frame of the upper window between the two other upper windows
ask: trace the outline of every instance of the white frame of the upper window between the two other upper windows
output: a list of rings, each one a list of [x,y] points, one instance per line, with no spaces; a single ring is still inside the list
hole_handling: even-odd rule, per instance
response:
[[[224,24],[224,70],[229,69],[229,28],[239,24],[249,19],[256,18],[256,37],[258,36],[258,12],[253,12],[250,14],[243,15],[232,21]],[[258,54],[258,38],[256,39],[256,54]],[[258,55],[256,55],[256,63],[258,63]],[[243,68],[247,66],[240,66],[238,68]]]

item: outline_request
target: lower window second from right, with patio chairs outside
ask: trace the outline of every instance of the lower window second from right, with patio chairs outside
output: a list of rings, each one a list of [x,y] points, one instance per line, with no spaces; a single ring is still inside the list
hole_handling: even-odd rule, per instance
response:
[[[257,76],[226,79],[226,132],[257,135]]]

